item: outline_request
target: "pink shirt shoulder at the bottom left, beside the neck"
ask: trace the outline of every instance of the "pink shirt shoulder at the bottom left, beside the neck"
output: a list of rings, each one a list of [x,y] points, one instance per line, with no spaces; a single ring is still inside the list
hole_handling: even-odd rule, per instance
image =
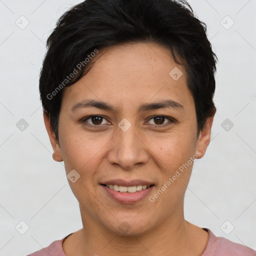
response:
[[[67,236],[69,235],[70,234],[68,234]],[[53,241],[48,247],[42,248],[27,256],[49,256],[49,255],[56,255],[56,254],[58,256],[66,256],[62,248],[62,243],[67,236],[65,236],[61,240]]]

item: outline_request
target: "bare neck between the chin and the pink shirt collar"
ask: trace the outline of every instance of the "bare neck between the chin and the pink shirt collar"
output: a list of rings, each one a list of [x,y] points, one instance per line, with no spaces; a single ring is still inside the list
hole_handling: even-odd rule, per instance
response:
[[[200,255],[208,241],[206,231],[184,219],[183,208],[139,235],[118,235],[90,218],[82,207],[80,211],[83,228],[70,236],[70,246],[63,244],[67,256]]]

